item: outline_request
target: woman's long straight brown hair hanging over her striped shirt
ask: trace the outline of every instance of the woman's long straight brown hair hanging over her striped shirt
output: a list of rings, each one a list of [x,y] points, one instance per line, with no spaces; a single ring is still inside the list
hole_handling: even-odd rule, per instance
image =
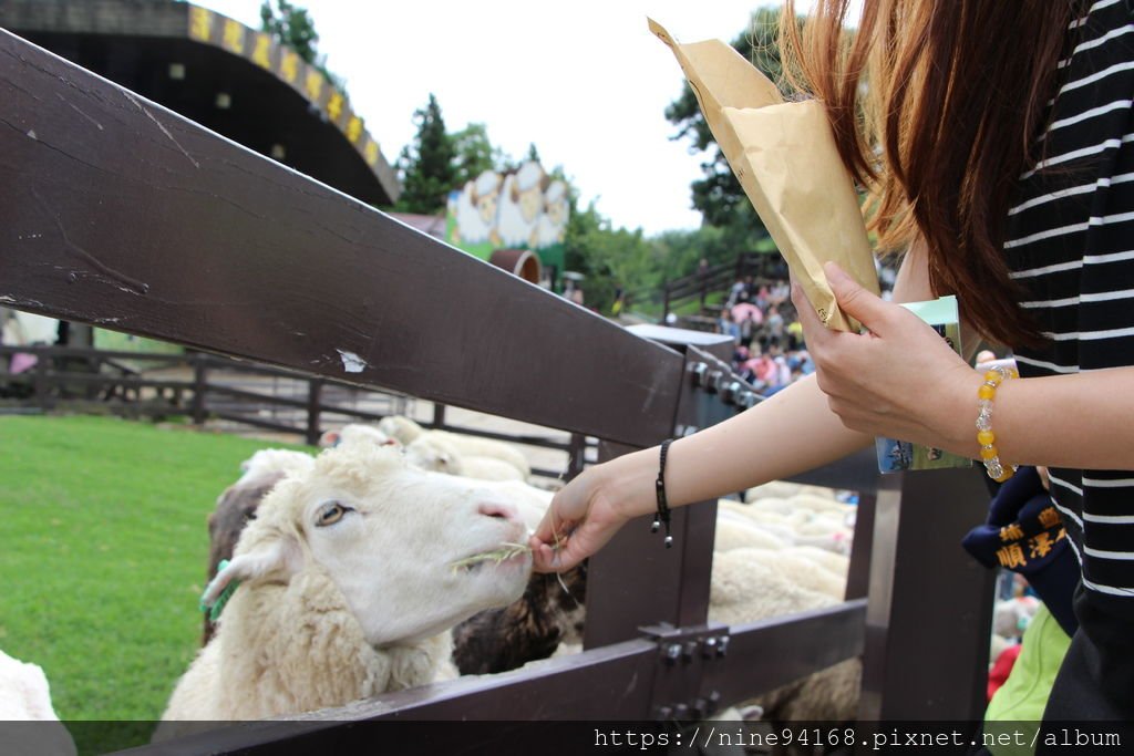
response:
[[[839,154],[868,188],[882,250],[916,235],[938,296],[984,335],[1036,343],[1002,243],[1010,193],[1035,159],[1073,0],[816,0],[780,19],[785,76],[827,108]]]

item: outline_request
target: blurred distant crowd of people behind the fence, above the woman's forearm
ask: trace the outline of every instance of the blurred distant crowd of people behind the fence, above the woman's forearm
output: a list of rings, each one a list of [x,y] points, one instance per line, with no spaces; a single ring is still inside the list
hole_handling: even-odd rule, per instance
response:
[[[790,294],[781,279],[738,278],[720,313],[718,328],[736,345],[733,369],[764,397],[815,371]]]

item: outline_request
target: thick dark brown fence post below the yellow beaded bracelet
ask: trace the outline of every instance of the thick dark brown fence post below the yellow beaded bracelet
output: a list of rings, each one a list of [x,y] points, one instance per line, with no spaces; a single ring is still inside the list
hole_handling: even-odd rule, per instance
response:
[[[881,478],[861,721],[983,716],[993,574],[960,547],[988,512],[981,472],[917,470]]]

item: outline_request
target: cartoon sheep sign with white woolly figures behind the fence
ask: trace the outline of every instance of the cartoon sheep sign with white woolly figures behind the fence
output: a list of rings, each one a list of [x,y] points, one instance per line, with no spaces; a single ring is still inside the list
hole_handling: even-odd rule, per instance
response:
[[[497,249],[527,249],[562,270],[567,185],[536,161],[507,173],[484,171],[449,195],[447,240],[482,260]]]

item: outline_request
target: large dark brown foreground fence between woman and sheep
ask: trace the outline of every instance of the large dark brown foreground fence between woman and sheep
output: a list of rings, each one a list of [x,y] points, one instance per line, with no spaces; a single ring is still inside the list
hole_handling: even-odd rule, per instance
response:
[[[5,32],[0,122],[6,305],[593,436],[603,458],[754,401],[727,345],[629,333]],[[873,470],[818,473],[863,492],[841,605],[708,625],[704,502],[675,512],[678,547],[643,520],[593,558],[576,657],[324,712],[315,744],[264,725],[142,750],[361,750],[369,719],[693,719],[860,654],[863,720],[976,720],[992,586],[957,541],[984,487]],[[434,753],[462,737],[438,730]],[[507,730],[482,740],[517,750]]]

